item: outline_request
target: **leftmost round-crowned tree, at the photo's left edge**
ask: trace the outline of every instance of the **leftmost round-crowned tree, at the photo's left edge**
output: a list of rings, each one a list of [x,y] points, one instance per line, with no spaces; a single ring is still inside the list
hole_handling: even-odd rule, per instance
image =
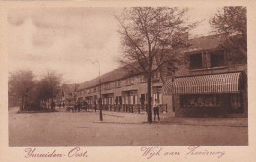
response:
[[[8,99],[10,102],[21,101],[20,110],[26,109],[26,98],[32,93],[36,81],[32,71],[16,71],[11,73],[8,81]]]

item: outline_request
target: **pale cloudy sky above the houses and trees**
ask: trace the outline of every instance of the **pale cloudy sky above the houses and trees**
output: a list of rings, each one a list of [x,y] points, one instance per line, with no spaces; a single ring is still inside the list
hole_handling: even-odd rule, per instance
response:
[[[211,34],[216,8],[190,8],[188,22],[201,21],[191,37]],[[63,83],[82,83],[118,68],[120,8],[11,9],[8,14],[8,71],[62,74]]]

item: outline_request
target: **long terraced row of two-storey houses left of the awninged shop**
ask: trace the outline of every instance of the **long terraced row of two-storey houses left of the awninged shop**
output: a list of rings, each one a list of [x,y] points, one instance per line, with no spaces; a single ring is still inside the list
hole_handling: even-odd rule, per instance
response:
[[[171,97],[162,95],[162,85],[160,77],[155,75],[152,97],[159,101],[161,111],[167,112],[172,105]],[[100,94],[106,110],[146,111],[147,80],[143,75],[131,76],[127,70],[120,68],[78,86],[79,102],[86,102],[89,106],[98,105]]]

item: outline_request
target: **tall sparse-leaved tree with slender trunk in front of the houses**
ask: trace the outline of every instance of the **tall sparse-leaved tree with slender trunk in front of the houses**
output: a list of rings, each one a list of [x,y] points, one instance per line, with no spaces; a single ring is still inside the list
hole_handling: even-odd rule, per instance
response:
[[[150,123],[152,77],[167,64],[169,70],[174,70],[174,65],[181,59],[177,49],[185,45],[188,31],[196,26],[196,23],[184,22],[186,11],[179,8],[134,7],[124,9],[121,15],[116,16],[123,46],[120,62],[132,73],[147,77]]]

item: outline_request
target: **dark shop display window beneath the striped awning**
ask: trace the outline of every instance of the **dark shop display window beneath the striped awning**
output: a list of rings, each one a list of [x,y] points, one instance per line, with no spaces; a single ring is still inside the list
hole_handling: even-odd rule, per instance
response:
[[[219,94],[181,95],[181,108],[220,107],[221,97]]]

